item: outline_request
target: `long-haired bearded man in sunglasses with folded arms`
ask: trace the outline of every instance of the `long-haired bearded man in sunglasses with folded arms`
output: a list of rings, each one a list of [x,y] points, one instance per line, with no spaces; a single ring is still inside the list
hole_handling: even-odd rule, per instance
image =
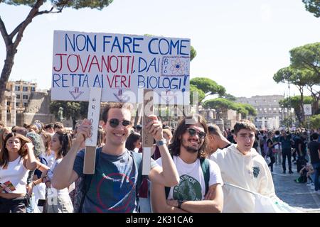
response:
[[[154,212],[222,211],[223,181],[218,165],[206,159],[207,133],[206,121],[198,114],[179,123],[169,150],[180,183],[165,188],[162,184],[152,182],[151,205]],[[162,165],[162,157],[156,162]]]

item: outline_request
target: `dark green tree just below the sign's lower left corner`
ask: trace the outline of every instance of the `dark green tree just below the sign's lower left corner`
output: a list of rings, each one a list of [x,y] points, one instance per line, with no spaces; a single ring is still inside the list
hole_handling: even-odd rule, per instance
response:
[[[58,118],[58,110],[63,108],[63,117],[71,118],[73,120],[73,128],[79,118],[87,117],[87,101],[52,101],[50,103],[50,112]]]

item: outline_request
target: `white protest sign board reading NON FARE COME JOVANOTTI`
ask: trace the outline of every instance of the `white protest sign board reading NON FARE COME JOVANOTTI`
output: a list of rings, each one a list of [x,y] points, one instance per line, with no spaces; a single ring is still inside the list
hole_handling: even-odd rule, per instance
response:
[[[102,88],[102,101],[130,93],[137,103],[138,89],[172,96],[188,92],[189,66],[189,39],[55,31],[52,99],[88,101],[90,87]]]

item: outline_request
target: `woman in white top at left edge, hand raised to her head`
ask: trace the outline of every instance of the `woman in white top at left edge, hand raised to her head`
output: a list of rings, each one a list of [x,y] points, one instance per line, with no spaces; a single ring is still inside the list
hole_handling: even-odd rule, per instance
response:
[[[9,133],[0,151],[0,213],[25,213],[29,170],[45,170],[36,160],[31,140]]]

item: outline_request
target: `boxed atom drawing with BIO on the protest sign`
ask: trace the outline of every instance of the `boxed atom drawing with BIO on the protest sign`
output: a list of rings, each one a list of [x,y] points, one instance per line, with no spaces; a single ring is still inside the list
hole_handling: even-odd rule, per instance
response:
[[[161,65],[161,76],[185,76],[188,75],[188,57],[163,57]]]

